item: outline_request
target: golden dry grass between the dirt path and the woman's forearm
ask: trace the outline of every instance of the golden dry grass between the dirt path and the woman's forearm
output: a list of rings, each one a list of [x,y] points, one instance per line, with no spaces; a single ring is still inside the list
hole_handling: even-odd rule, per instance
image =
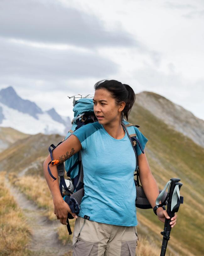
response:
[[[34,201],[38,207],[45,208],[45,216],[50,220],[56,219],[51,192],[45,178],[40,175],[17,177],[16,173],[11,173],[9,179],[28,199]]]

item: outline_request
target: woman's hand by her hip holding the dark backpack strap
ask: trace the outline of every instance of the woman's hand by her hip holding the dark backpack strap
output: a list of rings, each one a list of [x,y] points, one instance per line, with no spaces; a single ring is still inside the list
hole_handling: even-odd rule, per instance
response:
[[[54,202],[54,214],[56,214],[56,218],[60,219],[60,222],[64,225],[67,225],[68,213],[72,214],[74,218],[77,218],[77,215],[71,212],[70,207],[64,200]]]

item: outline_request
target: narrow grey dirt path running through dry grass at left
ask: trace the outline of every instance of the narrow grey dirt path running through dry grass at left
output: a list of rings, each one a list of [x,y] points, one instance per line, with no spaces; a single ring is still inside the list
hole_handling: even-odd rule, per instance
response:
[[[62,224],[57,220],[50,221],[43,216],[45,210],[39,209],[34,202],[28,200],[16,187],[10,187],[8,179],[6,179],[6,185],[19,207],[23,210],[28,225],[32,230],[32,240],[28,245],[28,249],[33,252],[33,255],[63,256],[68,253],[72,249],[72,245],[63,246],[57,239],[56,229]]]

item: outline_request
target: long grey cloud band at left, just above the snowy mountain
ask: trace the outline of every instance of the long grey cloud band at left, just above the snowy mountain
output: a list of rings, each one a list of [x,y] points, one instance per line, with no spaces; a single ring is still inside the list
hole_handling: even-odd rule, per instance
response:
[[[66,80],[115,74],[119,66],[96,52],[53,50],[0,40],[1,82],[9,79]]]

